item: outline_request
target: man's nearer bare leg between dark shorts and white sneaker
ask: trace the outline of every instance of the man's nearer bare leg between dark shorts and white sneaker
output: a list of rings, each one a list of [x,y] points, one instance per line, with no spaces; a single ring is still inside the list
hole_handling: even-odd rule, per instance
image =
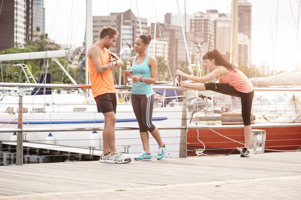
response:
[[[110,154],[114,155],[116,152],[115,147],[115,123],[116,117],[114,112],[103,113],[105,128],[103,129],[103,138],[106,138]],[[104,144],[103,144],[104,145]]]

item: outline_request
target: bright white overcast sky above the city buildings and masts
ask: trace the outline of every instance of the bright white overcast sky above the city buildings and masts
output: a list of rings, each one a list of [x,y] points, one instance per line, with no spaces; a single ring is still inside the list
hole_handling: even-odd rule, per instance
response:
[[[178,1],[181,12],[184,13],[184,0]],[[294,70],[297,58],[296,47],[298,49],[301,47],[300,40],[296,45],[298,1],[279,0],[276,32],[278,0],[250,0],[253,4],[252,64],[267,63],[272,66],[275,58],[276,70]],[[92,2],[93,16],[107,16],[108,13],[125,12],[128,9],[138,16],[134,0],[93,0]],[[186,12],[190,14],[216,9],[219,13],[231,13],[231,2],[231,0],[186,0]],[[157,21],[156,13],[160,23],[164,23],[166,13],[178,13],[176,0],[137,0],[137,3],[140,17],[147,18],[149,22]],[[71,43],[80,46],[85,34],[85,4],[85,0],[45,0],[46,33],[49,37],[59,44]],[[272,47],[274,47],[274,56]],[[298,53],[298,62],[301,63],[300,55]]]

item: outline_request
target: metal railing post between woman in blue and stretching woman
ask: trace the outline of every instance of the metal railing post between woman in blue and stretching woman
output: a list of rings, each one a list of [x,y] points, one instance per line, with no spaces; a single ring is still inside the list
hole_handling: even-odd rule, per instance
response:
[[[182,107],[182,123],[186,129],[181,129],[179,157],[187,157],[187,90],[184,90],[183,107]]]

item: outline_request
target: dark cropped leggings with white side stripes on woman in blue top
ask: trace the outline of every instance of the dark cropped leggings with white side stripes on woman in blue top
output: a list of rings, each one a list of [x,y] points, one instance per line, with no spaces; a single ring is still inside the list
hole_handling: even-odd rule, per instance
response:
[[[140,132],[153,132],[156,126],[152,123],[155,95],[131,94],[131,103],[139,124]]]

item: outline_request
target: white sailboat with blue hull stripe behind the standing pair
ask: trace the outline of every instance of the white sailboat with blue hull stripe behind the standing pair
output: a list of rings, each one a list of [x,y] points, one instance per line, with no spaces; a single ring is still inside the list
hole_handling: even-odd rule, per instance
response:
[[[0,55],[0,61],[28,60],[28,59],[50,59],[57,57],[67,57],[85,54],[92,45],[92,0],[86,1],[86,43],[85,49],[77,48],[75,50],[48,51],[35,53],[22,53],[14,55]],[[86,55],[86,54],[85,54]],[[87,55],[86,55],[87,57]],[[86,58],[87,59],[87,58]],[[86,62],[86,85],[89,85],[88,66]],[[59,64],[59,63],[58,63]],[[60,64],[59,64],[60,65]],[[68,73],[63,69],[67,74]],[[48,76],[49,77],[49,76]],[[71,76],[68,76],[74,85],[76,82]],[[47,79],[47,78],[46,78]],[[43,84],[43,80],[41,78]],[[50,82],[47,82],[50,83]],[[7,83],[8,87],[18,86],[20,84]],[[81,90],[85,90],[86,85],[82,85]],[[26,87],[32,87],[30,83]],[[80,86],[81,87],[81,86]],[[50,87],[51,88],[51,87]],[[104,117],[97,113],[96,103],[92,96],[86,93],[82,94],[58,94],[50,90],[37,88],[33,95],[23,97],[23,127],[24,128],[85,128],[85,127],[103,127]],[[40,92],[41,95],[38,95]],[[22,94],[21,94],[22,95]],[[6,95],[2,98],[0,106],[0,126],[2,128],[17,128],[18,125],[18,96]],[[153,121],[156,126],[174,126],[181,124],[181,107],[157,107],[153,112]],[[138,124],[134,116],[132,106],[129,103],[119,103],[116,110],[116,127],[136,127],[136,130],[118,130],[116,128],[116,148],[130,154],[137,154],[143,150],[140,141]],[[169,145],[167,156],[179,157],[180,130],[162,130],[161,135],[164,142]],[[96,134],[95,134],[96,133]],[[0,133],[0,140],[10,141],[13,132]],[[37,143],[49,143],[47,137],[49,132],[29,132],[26,134],[26,140]],[[52,132],[51,144],[73,146],[73,147],[96,147],[102,149],[101,131],[70,131],[70,132]],[[156,145],[155,145],[156,144]],[[158,152],[158,145],[154,138],[150,138],[150,152]]]

